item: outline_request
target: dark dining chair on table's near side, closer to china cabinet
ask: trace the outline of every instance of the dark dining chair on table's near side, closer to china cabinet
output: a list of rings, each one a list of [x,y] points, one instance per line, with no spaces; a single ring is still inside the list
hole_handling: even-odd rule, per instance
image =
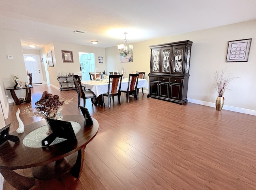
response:
[[[129,74],[127,90],[121,90],[127,94],[127,102],[129,103],[129,96],[133,95],[137,100],[137,85],[138,85],[139,74]]]

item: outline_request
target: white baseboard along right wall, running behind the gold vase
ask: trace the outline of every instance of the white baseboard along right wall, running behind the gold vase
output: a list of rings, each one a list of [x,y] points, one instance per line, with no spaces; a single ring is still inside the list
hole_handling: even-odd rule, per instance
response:
[[[191,98],[188,98],[188,102],[215,108],[215,103],[212,103],[212,102],[194,100],[194,99],[191,99]],[[234,106],[226,106],[226,105],[224,105],[222,109],[223,110],[229,110],[229,111],[232,111],[232,112],[239,112],[239,113],[242,113],[242,114],[249,114],[249,115],[252,115],[252,116],[256,116],[256,110],[248,110],[248,109],[244,109],[244,108],[237,108],[237,107],[234,107]]]

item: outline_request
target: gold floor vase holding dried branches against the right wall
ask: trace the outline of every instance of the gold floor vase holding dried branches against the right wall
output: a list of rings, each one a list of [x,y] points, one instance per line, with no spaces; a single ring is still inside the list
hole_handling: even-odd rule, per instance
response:
[[[216,90],[218,92],[218,98],[216,100],[215,106],[216,106],[216,110],[221,111],[224,105],[224,99],[225,99],[223,97],[223,94],[227,90],[230,82],[238,77],[232,76],[232,73],[230,73],[229,71],[226,72],[226,70],[216,71],[214,72],[214,75],[215,75],[215,81],[216,81]]]

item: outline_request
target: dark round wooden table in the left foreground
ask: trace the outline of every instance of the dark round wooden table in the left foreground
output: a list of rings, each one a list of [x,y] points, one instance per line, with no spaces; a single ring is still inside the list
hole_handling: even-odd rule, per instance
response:
[[[46,125],[46,121],[38,121],[24,127],[24,132],[10,133],[18,136],[20,141],[6,141],[0,146],[0,173],[12,186],[17,189],[29,189],[35,185],[35,179],[48,179],[71,172],[76,178],[80,177],[84,161],[84,149],[96,136],[99,124],[94,118],[93,125],[84,127],[84,116],[63,116],[64,121],[80,123],[81,129],[76,133],[77,142],[62,142],[44,148],[29,148],[22,141],[31,131]],[[13,170],[32,168],[34,177],[22,176]]]

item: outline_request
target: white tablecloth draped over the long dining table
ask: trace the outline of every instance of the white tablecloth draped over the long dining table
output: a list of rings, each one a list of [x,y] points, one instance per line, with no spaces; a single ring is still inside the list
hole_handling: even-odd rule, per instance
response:
[[[81,81],[82,86],[85,86],[86,89],[91,89],[92,92],[98,97],[100,94],[104,94],[108,92],[108,80],[86,80]],[[110,83],[110,89],[112,87],[112,83]],[[122,79],[121,90],[127,90],[128,87],[128,78]],[[119,84],[118,87],[119,88]],[[137,88],[147,88],[148,89],[148,81],[146,79],[139,78]]]

